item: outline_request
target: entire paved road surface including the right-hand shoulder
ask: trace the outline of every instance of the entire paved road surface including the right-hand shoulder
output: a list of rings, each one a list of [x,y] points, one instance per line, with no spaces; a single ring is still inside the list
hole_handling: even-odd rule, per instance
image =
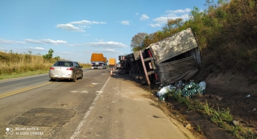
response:
[[[0,81],[0,138],[194,138],[129,77],[84,70],[84,79],[48,74]]]

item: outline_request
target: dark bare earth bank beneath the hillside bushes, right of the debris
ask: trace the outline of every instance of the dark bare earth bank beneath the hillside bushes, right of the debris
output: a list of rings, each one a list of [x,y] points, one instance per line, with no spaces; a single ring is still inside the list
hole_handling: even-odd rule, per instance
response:
[[[256,78],[256,77],[255,77]],[[243,74],[210,74],[203,99],[219,108],[229,108],[234,119],[257,133],[257,83]]]

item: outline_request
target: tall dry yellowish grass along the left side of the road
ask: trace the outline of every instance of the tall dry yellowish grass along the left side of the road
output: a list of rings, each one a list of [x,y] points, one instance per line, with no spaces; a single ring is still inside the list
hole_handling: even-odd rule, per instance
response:
[[[54,65],[55,62],[56,59],[45,60],[40,54],[17,54],[0,51],[0,80],[45,74],[49,72],[49,67]],[[89,63],[79,63],[79,65],[82,66],[83,69],[91,67]]]

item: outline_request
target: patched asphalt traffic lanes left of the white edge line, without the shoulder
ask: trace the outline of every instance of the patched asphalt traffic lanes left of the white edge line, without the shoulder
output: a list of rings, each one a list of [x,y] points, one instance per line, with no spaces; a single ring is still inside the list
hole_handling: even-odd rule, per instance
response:
[[[19,92],[0,99],[0,137],[70,138],[107,79],[109,70],[84,70],[77,82],[48,74],[0,81],[0,95]]]

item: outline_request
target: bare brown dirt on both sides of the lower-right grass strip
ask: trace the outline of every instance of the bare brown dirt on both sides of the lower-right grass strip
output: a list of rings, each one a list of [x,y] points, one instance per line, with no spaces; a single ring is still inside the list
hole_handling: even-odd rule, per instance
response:
[[[208,74],[203,78],[202,73],[194,76],[194,82],[205,81],[205,95],[195,99],[205,104],[208,101],[210,108],[216,110],[229,109],[233,120],[239,122],[242,129],[253,133],[253,138],[257,135],[257,83],[256,77],[244,74]],[[192,99],[194,100],[194,99]],[[165,102],[159,102],[166,105],[180,122],[190,123],[192,131],[201,133],[205,138],[236,138],[232,136],[231,131],[219,128],[217,124],[210,119],[189,110],[186,106],[181,105],[178,101],[171,98]],[[233,123],[228,123],[233,124]],[[239,137],[238,137],[239,138]]]

